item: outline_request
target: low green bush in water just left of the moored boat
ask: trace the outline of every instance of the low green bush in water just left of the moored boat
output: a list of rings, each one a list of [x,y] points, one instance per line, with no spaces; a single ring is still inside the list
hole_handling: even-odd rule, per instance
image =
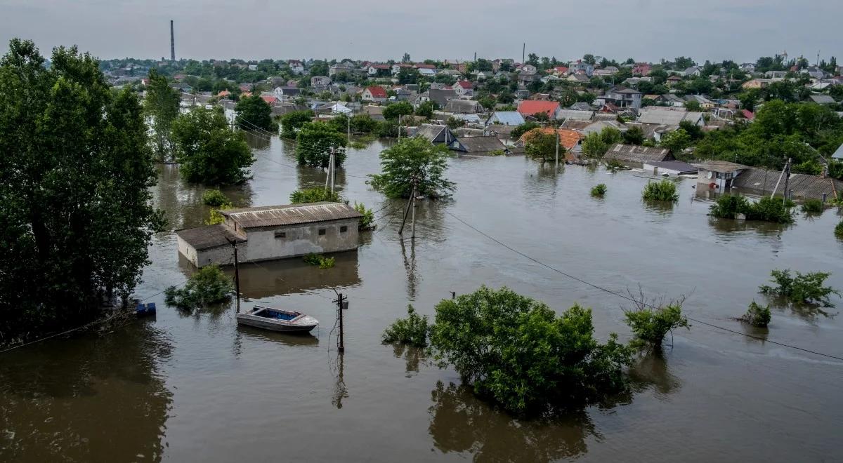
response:
[[[191,275],[182,288],[170,286],[164,290],[164,302],[180,309],[193,309],[228,301],[234,284],[217,264],[202,267]]]

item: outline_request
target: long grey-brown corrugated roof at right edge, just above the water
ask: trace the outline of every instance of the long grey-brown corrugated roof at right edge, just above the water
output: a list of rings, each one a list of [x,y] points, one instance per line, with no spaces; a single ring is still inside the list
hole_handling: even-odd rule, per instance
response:
[[[781,172],[776,170],[747,168],[738,177],[735,177],[732,186],[736,189],[747,189],[753,193],[771,194],[773,189],[776,188],[779,175],[781,175]],[[776,194],[783,194],[783,189],[784,179],[782,178]],[[828,198],[833,198],[835,190],[840,193],[843,190],[843,182],[829,177],[820,177],[819,175],[792,173],[787,180],[787,189],[792,190],[793,195],[797,198],[816,198],[820,200],[823,198],[823,194],[827,194]]]

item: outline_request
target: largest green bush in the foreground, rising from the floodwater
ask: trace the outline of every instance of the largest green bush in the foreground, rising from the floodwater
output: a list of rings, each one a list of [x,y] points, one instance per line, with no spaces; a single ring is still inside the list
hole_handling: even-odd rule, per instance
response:
[[[430,343],[475,393],[517,413],[617,391],[631,362],[615,334],[605,344],[593,338],[589,309],[557,317],[540,301],[486,286],[438,303]]]

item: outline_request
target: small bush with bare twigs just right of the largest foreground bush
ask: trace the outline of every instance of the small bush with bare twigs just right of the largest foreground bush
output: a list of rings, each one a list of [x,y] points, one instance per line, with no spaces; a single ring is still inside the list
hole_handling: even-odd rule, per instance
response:
[[[625,311],[626,324],[632,328],[630,345],[636,349],[662,349],[664,337],[675,328],[690,329],[688,318],[682,315],[679,302],[657,308],[648,307],[640,302],[636,309]]]

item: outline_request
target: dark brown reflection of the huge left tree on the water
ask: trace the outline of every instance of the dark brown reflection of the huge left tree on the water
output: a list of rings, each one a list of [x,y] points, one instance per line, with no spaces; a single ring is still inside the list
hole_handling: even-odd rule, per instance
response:
[[[161,460],[171,393],[157,359],[169,357],[169,340],[145,322],[83,340],[6,354],[0,460]]]

